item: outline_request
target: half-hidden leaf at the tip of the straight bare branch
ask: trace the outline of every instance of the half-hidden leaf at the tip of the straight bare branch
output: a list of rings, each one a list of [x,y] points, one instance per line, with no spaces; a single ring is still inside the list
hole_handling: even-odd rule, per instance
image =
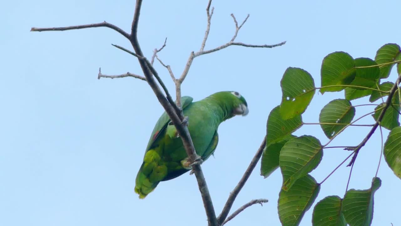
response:
[[[260,175],[265,178],[269,177],[269,175],[278,168],[281,149],[283,148],[284,144],[295,137],[296,136],[290,134],[283,138],[282,141],[265,146],[260,166]]]

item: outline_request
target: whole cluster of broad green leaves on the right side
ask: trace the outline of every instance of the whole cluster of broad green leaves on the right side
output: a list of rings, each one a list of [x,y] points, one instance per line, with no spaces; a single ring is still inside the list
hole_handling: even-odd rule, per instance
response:
[[[371,113],[363,115],[372,115],[375,122],[365,126],[381,126],[390,130],[383,154],[388,166],[401,179],[400,62],[399,45],[389,43],[379,48],[375,60],[354,59],[342,51],[328,54],[322,61],[320,87],[315,86],[314,79],[306,70],[289,67],[284,72],[281,80],[282,102],[270,112],[267,119],[266,146],[261,159],[262,176],[268,177],[277,168],[282,173],[283,184],[277,209],[283,226],[296,226],[300,223],[318,196],[321,183],[327,179],[317,183],[309,175],[322,160],[324,148],[338,134],[362,118],[354,119],[356,106],[352,105],[352,100],[369,96],[370,103],[381,101]],[[398,76],[395,82],[381,82],[389,78],[396,64]],[[344,98],[330,101],[320,111],[318,124],[329,139],[324,145],[311,135],[293,135],[302,125],[308,124],[302,121],[302,114],[316,90],[322,94],[344,90]],[[391,100],[385,101],[390,93]],[[370,103],[366,105],[374,105]],[[374,131],[372,129],[372,133]],[[353,150],[353,160],[369,138],[367,136],[359,146],[345,148]],[[324,197],[314,206],[312,225],[370,225],[374,193],[380,185],[381,180],[375,175],[369,189],[349,189],[342,198],[333,195]]]

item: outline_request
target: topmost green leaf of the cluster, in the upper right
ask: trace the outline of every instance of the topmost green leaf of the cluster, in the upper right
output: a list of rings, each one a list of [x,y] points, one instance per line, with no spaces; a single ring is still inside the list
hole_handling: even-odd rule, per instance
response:
[[[400,55],[400,47],[394,43],[388,43],[380,47],[376,52],[375,61],[377,64],[385,64],[395,61]],[[380,78],[388,78],[394,64],[389,64],[380,68]]]

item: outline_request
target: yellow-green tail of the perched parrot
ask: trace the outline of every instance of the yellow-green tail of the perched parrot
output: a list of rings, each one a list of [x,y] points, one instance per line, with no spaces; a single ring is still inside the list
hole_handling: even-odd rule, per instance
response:
[[[151,193],[167,175],[167,166],[160,161],[157,150],[149,150],[135,180],[135,193],[140,199]]]

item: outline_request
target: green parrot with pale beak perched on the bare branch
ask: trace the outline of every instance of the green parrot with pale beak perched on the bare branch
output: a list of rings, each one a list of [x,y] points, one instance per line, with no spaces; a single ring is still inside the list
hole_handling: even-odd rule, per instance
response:
[[[188,130],[196,154],[207,160],[217,147],[217,128],[223,121],[235,115],[247,115],[245,99],[234,91],[216,92],[192,103],[192,97],[182,97],[182,110],[188,117]],[[135,192],[143,199],[160,181],[174,179],[189,171],[192,166],[175,126],[164,112],[157,121],[144,161],[136,176]]]

